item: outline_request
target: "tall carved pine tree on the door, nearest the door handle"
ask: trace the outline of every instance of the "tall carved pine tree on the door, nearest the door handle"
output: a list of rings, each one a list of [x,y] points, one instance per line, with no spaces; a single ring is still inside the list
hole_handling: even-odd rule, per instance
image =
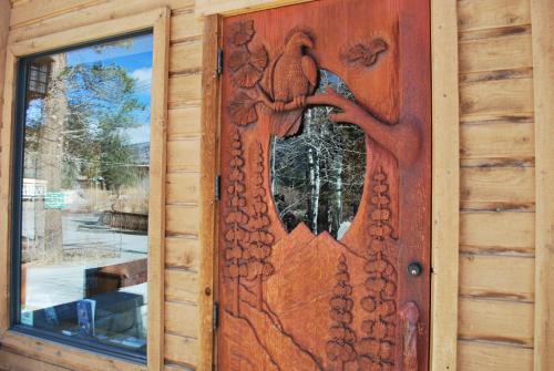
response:
[[[361,300],[367,320],[362,323],[366,337],[357,348],[360,370],[394,370],[397,271],[391,264],[393,244],[388,192],[387,175],[379,168],[373,175],[371,195],[371,244],[365,267],[367,296]]]

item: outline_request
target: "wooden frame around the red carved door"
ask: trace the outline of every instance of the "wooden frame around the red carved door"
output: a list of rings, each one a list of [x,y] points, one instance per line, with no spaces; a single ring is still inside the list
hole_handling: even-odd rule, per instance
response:
[[[214,362],[213,305],[217,285],[217,202],[219,173],[219,79],[217,48],[223,17],[312,0],[247,0],[211,4],[197,1],[205,17],[202,110],[201,357],[198,370]],[[207,4],[206,4],[207,2]],[[455,0],[431,0],[432,63],[432,220],[430,370],[454,371],[458,344],[458,270],[460,233],[460,133],[458,13]],[[439,326],[437,326],[439,324]]]

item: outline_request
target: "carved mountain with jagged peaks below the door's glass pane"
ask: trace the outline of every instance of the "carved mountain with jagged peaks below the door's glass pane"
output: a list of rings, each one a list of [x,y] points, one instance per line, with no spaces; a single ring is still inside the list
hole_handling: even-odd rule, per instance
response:
[[[315,236],[306,225],[300,224],[274,246],[271,264],[276,275],[264,285],[266,306],[278,318],[283,331],[312,354],[325,370],[335,370],[335,363],[325,354],[327,342],[334,336],[330,329],[336,323],[331,318],[331,300],[340,281],[336,267],[341,257],[350,272],[363,270],[363,258],[352,254],[328,233]],[[359,306],[363,297],[365,275],[352,277],[353,307],[350,317],[351,328],[356,331],[361,328],[365,316]],[[345,367],[345,370],[355,369],[356,361]]]

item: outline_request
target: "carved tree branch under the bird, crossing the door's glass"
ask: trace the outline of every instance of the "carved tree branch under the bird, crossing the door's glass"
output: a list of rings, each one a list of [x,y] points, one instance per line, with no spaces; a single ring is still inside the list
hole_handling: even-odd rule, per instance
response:
[[[252,99],[263,103],[271,111],[278,111],[275,102],[267,96],[259,84],[256,85],[256,96],[252,96]],[[334,122],[346,122],[359,126],[369,137],[390,151],[398,158],[401,166],[412,164],[418,156],[421,146],[421,136],[412,122],[407,122],[402,125],[389,125],[371,115],[371,113],[358,103],[340,95],[331,87],[328,87],[325,93],[308,96],[306,104],[331,105],[341,110],[342,112],[332,114],[329,118]],[[296,109],[298,106],[295,102],[288,102],[281,111]],[[402,140],[399,141],[399,138]]]

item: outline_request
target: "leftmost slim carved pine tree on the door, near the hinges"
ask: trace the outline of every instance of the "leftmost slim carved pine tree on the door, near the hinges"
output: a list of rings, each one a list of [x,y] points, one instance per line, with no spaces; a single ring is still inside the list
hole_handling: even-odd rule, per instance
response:
[[[233,311],[240,315],[240,277],[248,274],[247,261],[243,258],[244,245],[248,243],[248,214],[246,209],[246,186],[244,173],[243,142],[240,132],[233,134],[232,161],[228,175],[227,196],[229,212],[225,216],[225,269],[226,277],[235,281],[235,302]]]

